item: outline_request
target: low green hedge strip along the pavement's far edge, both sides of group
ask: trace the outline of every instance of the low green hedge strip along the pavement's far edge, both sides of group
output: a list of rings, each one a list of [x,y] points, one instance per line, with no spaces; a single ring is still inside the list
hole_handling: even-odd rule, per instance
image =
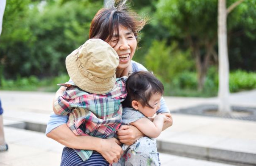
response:
[[[217,68],[211,67],[207,73],[205,87],[202,92],[197,90],[197,75],[195,72],[185,71],[177,74],[170,81],[162,81],[165,86],[165,95],[169,96],[195,96],[211,97],[218,93]],[[69,80],[68,74],[62,74],[55,78],[38,79],[36,76],[27,78],[17,77],[16,80],[2,79],[0,90],[29,90],[55,92],[59,86]],[[256,88],[256,73],[242,70],[232,71],[229,79],[230,92],[251,90]]]

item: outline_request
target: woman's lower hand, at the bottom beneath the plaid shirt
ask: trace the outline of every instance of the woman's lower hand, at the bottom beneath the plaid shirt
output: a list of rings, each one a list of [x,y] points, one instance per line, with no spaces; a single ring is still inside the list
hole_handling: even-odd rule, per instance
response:
[[[116,138],[102,139],[101,146],[97,151],[108,161],[108,163],[116,163],[123,154],[121,143]]]

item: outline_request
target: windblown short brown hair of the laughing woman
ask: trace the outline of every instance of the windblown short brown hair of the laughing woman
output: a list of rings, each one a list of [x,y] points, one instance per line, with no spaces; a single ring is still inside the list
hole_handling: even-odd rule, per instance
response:
[[[127,0],[116,1],[116,6],[100,9],[94,16],[89,32],[89,39],[97,38],[109,42],[113,33],[119,38],[119,25],[130,29],[138,37],[138,32],[146,24],[136,12],[133,12],[126,5]]]

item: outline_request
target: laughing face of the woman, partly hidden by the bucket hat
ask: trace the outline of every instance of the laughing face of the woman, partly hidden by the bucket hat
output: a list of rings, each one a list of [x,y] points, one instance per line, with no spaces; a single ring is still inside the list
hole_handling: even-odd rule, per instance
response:
[[[119,56],[118,68],[125,69],[129,67],[137,47],[137,40],[133,32],[124,26],[119,26],[119,39],[117,34],[114,33],[108,44],[114,48]]]

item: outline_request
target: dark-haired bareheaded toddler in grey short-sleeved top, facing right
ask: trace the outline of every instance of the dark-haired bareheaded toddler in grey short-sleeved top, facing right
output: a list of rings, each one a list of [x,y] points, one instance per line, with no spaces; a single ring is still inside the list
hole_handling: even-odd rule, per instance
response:
[[[126,89],[128,95],[123,102],[122,124],[137,127],[147,137],[140,138],[131,146],[123,144],[124,154],[113,166],[159,166],[154,138],[162,132],[163,123],[171,122],[171,119],[161,113],[151,117],[160,108],[163,84],[148,71],[138,71],[129,76]],[[144,148],[143,144],[150,146]]]

